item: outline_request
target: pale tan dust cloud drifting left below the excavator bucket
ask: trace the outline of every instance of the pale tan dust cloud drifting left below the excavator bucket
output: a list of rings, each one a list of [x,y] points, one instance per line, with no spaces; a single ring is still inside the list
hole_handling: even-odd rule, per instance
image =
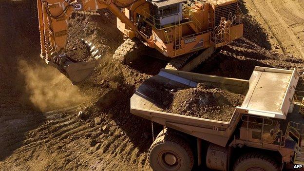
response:
[[[77,86],[50,66],[19,61],[31,102],[42,112],[83,103],[88,97],[81,95]]]

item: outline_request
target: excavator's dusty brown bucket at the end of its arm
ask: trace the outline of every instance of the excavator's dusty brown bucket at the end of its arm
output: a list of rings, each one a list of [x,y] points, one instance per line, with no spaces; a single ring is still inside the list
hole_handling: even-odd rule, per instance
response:
[[[86,62],[71,62],[66,61],[64,70],[68,75],[69,79],[76,83],[84,80],[94,70],[97,61],[86,61]]]

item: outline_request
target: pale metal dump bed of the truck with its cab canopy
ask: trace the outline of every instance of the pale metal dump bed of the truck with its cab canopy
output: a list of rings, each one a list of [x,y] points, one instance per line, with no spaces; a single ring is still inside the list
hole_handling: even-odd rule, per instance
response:
[[[214,144],[226,146],[241,114],[285,118],[298,79],[299,73],[295,70],[265,67],[256,67],[249,80],[162,69],[158,75],[146,80],[131,97],[131,113]],[[161,112],[156,103],[158,99],[151,98],[154,87],[151,87],[151,83],[147,84],[148,81],[155,82],[155,85],[170,85],[174,88],[191,88],[196,87],[198,83],[204,83],[246,97],[242,106],[236,107],[229,122],[171,114]]]

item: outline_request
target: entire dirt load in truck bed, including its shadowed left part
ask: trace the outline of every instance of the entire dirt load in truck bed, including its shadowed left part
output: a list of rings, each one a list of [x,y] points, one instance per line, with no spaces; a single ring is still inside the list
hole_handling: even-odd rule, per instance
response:
[[[148,79],[145,85],[150,90],[147,97],[162,112],[226,122],[230,120],[235,107],[242,105],[245,97],[220,88],[206,87],[204,83],[199,83],[197,88],[176,88]]]

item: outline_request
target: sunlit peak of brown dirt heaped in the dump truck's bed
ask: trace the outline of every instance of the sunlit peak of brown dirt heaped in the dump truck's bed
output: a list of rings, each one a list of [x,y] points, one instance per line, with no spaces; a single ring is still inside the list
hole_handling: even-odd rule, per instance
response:
[[[243,99],[244,95],[219,88],[183,89],[173,93],[173,101],[165,111],[228,122],[235,107],[240,106]]]

